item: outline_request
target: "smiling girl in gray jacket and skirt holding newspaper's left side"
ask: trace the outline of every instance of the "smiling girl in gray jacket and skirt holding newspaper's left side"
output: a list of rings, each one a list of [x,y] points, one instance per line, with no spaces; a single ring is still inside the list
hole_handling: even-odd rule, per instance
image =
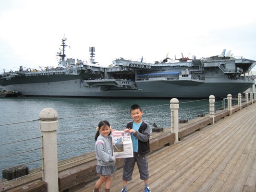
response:
[[[99,188],[104,182],[106,182],[105,192],[110,192],[111,174],[116,171],[110,132],[111,127],[107,120],[98,123],[95,134],[95,152],[98,161],[96,172],[99,174],[99,180],[96,182],[93,192],[99,192]]]

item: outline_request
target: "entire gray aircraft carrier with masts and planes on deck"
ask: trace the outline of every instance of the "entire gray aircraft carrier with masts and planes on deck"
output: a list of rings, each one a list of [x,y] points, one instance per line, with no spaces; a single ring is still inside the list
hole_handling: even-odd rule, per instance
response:
[[[67,59],[65,41],[58,67],[24,70],[21,66],[19,71],[4,72],[2,89],[22,96],[208,98],[237,96],[254,85],[254,76],[247,74],[256,61],[235,58],[225,50],[208,58],[166,57],[155,63],[119,58],[104,67],[95,62],[94,47],[89,49],[90,62]]]

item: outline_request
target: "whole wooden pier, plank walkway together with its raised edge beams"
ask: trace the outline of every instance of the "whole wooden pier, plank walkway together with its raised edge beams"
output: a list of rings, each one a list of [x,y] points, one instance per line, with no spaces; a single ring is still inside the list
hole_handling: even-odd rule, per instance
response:
[[[216,111],[215,123],[209,115],[180,123],[178,136],[174,144],[171,128],[151,133],[147,157],[152,192],[256,192],[255,101]],[[117,159],[111,192],[122,189],[122,163]],[[95,152],[60,161],[54,183],[60,192],[92,192],[96,166]],[[42,174],[37,168],[17,179],[1,180],[0,192],[52,191]],[[143,187],[135,166],[128,191],[142,192]]]

